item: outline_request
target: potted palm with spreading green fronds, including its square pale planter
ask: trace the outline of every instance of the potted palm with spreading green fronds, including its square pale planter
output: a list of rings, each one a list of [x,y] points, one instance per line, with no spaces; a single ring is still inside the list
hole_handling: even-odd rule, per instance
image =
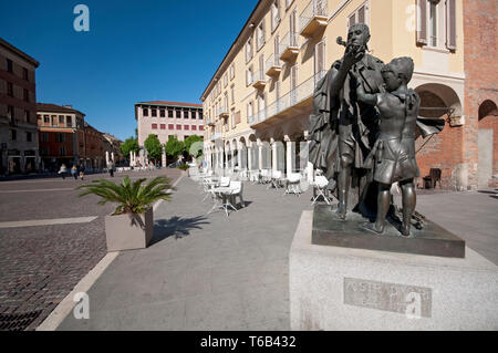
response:
[[[117,204],[114,212],[105,217],[107,251],[143,249],[151,242],[154,235],[152,205],[159,199],[169,200],[168,190],[173,187],[166,177],[156,177],[143,185],[145,180],[132,183],[126,176],[121,185],[100,179],[77,187],[84,189],[79,197],[93,194],[102,198],[98,205]]]

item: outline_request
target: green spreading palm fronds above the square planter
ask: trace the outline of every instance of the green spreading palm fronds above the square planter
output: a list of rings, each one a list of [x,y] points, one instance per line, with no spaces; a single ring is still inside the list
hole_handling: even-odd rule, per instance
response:
[[[159,199],[169,200],[170,194],[167,190],[174,189],[166,177],[156,177],[147,185],[143,185],[146,180],[146,178],[141,178],[132,183],[128,176],[123,179],[122,184],[106,179],[93,180],[92,184],[79,186],[76,189],[84,191],[77,196],[93,194],[101,197],[98,205],[105,205],[108,201],[118,204],[115,214],[142,214]]]

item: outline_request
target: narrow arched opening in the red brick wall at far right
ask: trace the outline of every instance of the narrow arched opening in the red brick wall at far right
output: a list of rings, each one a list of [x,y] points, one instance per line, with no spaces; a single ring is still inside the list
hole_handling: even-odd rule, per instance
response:
[[[478,116],[478,163],[477,186],[487,188],[495,186],[494,175],[498,175],[498,120],[497,106],[490,100],[479,105]]]

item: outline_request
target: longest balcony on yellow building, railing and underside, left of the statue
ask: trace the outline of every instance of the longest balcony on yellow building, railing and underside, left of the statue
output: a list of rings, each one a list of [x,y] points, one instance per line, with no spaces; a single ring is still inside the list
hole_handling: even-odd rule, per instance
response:
[[[248,120],[249,126],[252,128],[262,126],[263,123],[271,123],[276,118],[288,115],[291,108],[311,106],[314,87],[325,74],[325,70],[319,71],[297,87],[290,90],[282,97],[268,105],[264,110],[259,111],[257,115]]]

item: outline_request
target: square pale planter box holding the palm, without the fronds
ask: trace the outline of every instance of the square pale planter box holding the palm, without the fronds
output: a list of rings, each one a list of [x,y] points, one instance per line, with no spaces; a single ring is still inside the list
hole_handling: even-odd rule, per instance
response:
[[[144,249],[154,236],[152,207],[141,215],[105,216],[107,251]]]

